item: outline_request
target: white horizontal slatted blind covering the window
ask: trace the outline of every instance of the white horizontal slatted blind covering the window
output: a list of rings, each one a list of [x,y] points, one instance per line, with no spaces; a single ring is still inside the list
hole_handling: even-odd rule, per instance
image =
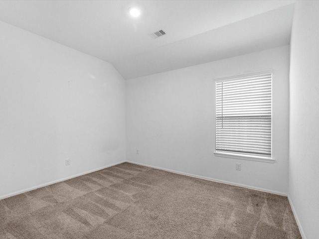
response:
[[[216,152],[271,156],[272,73],[216,80]]]

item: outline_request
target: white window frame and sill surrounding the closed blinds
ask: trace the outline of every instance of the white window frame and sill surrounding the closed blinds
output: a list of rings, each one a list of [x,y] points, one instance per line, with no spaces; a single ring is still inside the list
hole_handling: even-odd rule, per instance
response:
[[[270,155],[261,155],[261,154],[254,154],[254,153],[240,153],[240,152],[227,152],[227,151],[219,151],[216,150],[216,103],[217,103],[217,95],[216,95],[216,83],[221,81],[231,81],[231,80],[240,80],[243,78],[248,77],[258,77],[265,74],[271,74],[271,154]],[[273,163],[275,159],[273,158],[273,78],[274,78],[274,70],[266,70],[266,71],[258,71],[258,72],[251,72],[248,74],[241,74],[231,77],[224,77],[224,78],[216,78],[215,82],[215,148],[214,148],[214,155],[218,157],[226,157],[226,158],[235,158],[235,159],[244,159],[244,160],[252,160],[252,161],[261,161],[261,162],[268,162]]]

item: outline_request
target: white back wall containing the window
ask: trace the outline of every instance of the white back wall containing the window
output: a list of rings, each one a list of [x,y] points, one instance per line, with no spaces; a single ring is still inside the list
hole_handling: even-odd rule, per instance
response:
[[[215,157],[215,78],[274,69],[276,163]],[[287,194],[289,46],[131,79],[127,160]],[[139,154],[136,150],[139,149]],[[235,170],[235,163],[242,170]]]

